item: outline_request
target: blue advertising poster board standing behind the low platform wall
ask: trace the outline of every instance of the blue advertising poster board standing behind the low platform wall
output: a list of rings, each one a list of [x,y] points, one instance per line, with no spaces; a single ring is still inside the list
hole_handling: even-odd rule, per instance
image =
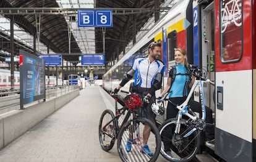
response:
[[[20,50],[20,108],[45,98],[45,61]]]

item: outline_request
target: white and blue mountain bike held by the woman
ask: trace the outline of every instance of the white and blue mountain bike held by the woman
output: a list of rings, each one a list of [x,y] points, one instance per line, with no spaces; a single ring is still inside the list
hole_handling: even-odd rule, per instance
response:
[[[205,130],[205,103],[202,90],[203,83],[211,83],[209,79],[202,77],[202,71],[197,69],[197,66],[192,66],[192,75],[196,77],[194,84],[187,96],[186,100],[177,105],[176,108],[179,109],[176,118],[168,119],[161,124],[159,127],[161,140],[163,143],[171,143],[171,150],[164,150],[164,146],[161,147],[161,155],[169,161],[190,161],[197,154],[200,145],[200,132]],[[202,106],[202,118],[199,119],[197,114],[195,114],[187,105],[194,92],[195,88],[199,86],[200,100]],[[167,95],[158,100],[159,103],[167,101]],[[188,119],[182,119],[182,116],[186,115]],[[209,124],[212,125],[212,124]]]

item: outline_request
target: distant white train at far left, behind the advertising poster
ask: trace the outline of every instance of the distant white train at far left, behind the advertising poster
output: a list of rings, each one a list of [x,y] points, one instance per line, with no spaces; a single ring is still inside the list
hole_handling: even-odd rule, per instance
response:
[[[58,78],[56,80],[56,76],[45,76],[45,87],[54,87],[57,85],[62,85],[62,79]],[[0,92],[6,92],[11,89],[11,70],[0,69]],[[20,72],[14,71],[14,90],[20,89]]]

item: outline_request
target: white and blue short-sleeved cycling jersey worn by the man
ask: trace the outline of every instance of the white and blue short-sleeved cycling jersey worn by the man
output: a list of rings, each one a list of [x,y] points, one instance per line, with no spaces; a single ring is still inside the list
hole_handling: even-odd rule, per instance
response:
[[[164,64],[159,60],[150,63],[148,58],[135,59],[132,69],[135,70],[134,86],[151,88],[156,74],[164,72]]]

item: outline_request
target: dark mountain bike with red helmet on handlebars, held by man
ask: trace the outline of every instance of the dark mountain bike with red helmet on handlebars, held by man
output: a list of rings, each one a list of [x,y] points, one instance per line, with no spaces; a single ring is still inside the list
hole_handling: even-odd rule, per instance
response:
[[[101,148],[105,151],[111,150],[117,139],[117,151],[122,161],[156,161],[161,147],[161,137],[158,128],[150,120],[138,116],[138,110],[143,108],[142,98],[139,95],[123,90],[121,92],[129,94],[124,98],[126,106],[118,109],[117,100],[119,95],[114,94],[115,115],[110,109],[105,109],[101,114],[99,124]],[[140,98],[140,101],[134,107],[127,103],[133,96]],[[126,116],[122,121],[121,116],[124,114]],[[147,145],[152,151],[153,156],[148,155],[142,150],[143,133],[147,132],[147,130],[143,130],[145,125],[150,127],[150,130],[148,130],[150,131],[150,137]],[[130,151],[126,150],[128,137],[131,139],[130,143],[132,144]]]

